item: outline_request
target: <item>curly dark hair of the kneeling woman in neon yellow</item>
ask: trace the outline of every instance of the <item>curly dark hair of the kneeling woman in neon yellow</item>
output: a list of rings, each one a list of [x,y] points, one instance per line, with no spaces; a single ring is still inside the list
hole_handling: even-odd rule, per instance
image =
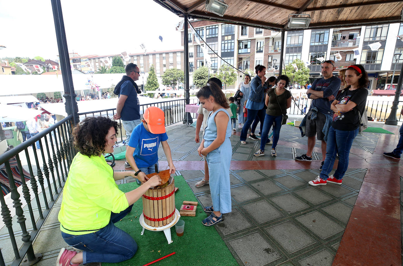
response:
[[[74,146],[83,155],[100,156],[105,151],[106,135],[113,127],[116,134],[120,125],[109,118],[87,117],[73,129]]]

